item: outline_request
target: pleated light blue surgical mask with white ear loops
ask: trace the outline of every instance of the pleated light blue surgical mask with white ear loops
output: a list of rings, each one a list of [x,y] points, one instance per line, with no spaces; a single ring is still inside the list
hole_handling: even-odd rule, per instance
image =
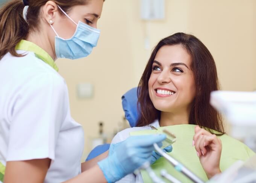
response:
[[[59,7],[59,6],[58,6]],[[70,39],[63,39],[59,37],[53,26],[55,36],[55,53],[57,58],[79,59],[88,56],[92,48],[97,45],[100,36],[100,30],[88,26],[79,21],[77,24],[72,20],[61,7],[59,9],[74,23],[77,28],[74,35]]]

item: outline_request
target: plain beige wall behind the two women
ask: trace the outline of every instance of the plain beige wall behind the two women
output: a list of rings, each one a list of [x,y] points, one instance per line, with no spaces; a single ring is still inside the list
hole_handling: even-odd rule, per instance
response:
[[[106,0],[98,23],[97,48],[85,59],[57,61],[67,80],[73,118],[85,139],[98,133],[98,121],[113,133],[122,120],[121,95],[138,84],[151,49],[175,32],[192,33],[213,54],[224,90],[256,90],[255,0],[166,0],[166,18],[145,22],[139,0]],[[144,48],[150,38],[150,50]],[[76,85],[90,82],[94,97],[79,100]],[[90,151],[85,141],[85,153]]]

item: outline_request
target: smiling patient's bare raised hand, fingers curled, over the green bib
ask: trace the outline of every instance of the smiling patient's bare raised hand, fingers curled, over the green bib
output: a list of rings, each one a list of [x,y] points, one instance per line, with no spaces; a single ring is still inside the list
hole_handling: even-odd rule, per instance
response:
[[[192,144],[195,146],[207,177],[210,179],[220,173],[221,140],[216,135],[196,126]]]

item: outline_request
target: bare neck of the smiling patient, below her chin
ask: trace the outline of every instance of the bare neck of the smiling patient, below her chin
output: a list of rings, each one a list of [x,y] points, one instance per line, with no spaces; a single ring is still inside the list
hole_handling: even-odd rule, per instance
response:
[[[190,111],[161,112],[160,126],[171,126],[177,124],[189,124]]]

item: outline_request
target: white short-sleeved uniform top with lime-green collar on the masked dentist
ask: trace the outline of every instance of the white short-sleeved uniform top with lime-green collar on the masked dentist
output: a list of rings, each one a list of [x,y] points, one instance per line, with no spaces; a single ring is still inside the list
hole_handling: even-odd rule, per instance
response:
[[[81,172],[84,134],[65,80],[42,48],[22,40],[16,49],[26,56],[0,60],[0,172],[8,161],[49,158],[44,182],[69,180]]]

